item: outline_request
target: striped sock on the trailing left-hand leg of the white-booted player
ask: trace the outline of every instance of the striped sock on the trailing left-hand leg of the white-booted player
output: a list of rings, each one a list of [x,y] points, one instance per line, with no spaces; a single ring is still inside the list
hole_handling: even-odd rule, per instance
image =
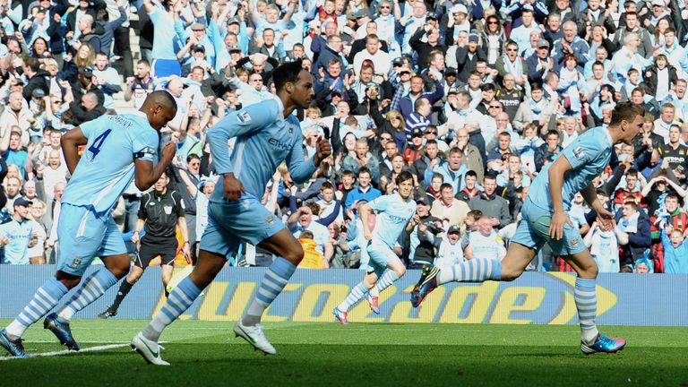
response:
[[[172,290],[168,300],[162,306],[160,312],[153,318],[143,330],[143,337],[148,340],[158,341],[160,333],[172,322],[183,314],[193,304],[193,301],[201,294],[201,289],[196,287],[193,281],[186,277]]]

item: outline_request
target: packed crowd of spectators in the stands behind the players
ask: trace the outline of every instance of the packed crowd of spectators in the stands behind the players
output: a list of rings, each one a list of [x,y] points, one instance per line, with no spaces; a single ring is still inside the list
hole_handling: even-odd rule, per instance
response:
[[[319,138],[333,154],[304,185],[280,167],[263,202],[299,238],[305,267],[357,268],[357,209],[406,170],[421,219],[395,249],[409,268],[503,257],[533,179],[630,99],[645,107],[643,131],[594,182],[616,227],[598,228],[580,194],[569,218],[602,272],[688,273],[685,0],[0,4],[4,263],[55,262],[61,135],[131,113],[152,90],[177,102],[160,143],[176,142],[168,176],[197,245],[217,181],[207,131],[273,98],[274,69],[301,61],[314,78],[313,105],[296,113],[305,154]],[[124,238],[141,195],[132,185],[113,209]],[[243,245],[228,262],[271,260]],[[545,248],[529,270],[571,267]]]

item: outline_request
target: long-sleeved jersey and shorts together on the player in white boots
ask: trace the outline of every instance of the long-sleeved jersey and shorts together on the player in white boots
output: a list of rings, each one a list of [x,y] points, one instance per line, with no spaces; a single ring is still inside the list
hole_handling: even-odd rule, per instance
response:
[[[236,137],[229,156],[228,140]],[[267,99],[245,107],[208,131],[212,159],[219,174],[218,185],[208,206],[208,226],[201,249],[228,254],[246,241],[258,245],[280,230],[282,221],[261,203],[265,185],[282,161],[297,183],[315,172],[313,159],[304,159],[303,134],[296,116],[284,118],[281,99]],[[245,192],[237,201],[224,200],[224,174],[233,172]]]

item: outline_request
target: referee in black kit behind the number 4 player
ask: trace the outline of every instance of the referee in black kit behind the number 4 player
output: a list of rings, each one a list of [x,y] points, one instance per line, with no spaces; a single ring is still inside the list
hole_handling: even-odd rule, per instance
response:
[[[162,174],[153,185],[153,191],[144,193],[141,198],[141,207],[136,220],[136,227],[132,236],[134,244],[141,240],[141,247],[136,261],[133,262],[132,271],[126,276],[117,291],[115,302],[105,312],[99,314],[100,318],[107,319],[115,316],[122,300],[132,289],[133,284],[143,275],[150,260],[160,255],[162,268],[162,285],[165,289],[165,297],[168,297],[168,283],[174,270],[177,239],[176,226],[184,239],[183,252],[186,262],[191,262],[191,248],[189,246],[189,233],[184,217],[184,201],[175,190],[168,189],[169,177]],[[140,237],[141,230],[145,228],[145,235]]]

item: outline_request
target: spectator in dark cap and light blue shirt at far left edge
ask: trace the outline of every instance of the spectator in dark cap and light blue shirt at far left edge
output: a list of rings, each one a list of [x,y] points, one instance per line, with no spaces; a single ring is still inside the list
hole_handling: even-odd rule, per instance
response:
[[[12,219],[0,225],[0,247],[4,248],[4,262],[29,264],[29,247],[38,243],[39,230],[29,218],[31,202],[20,197],[14,201]]]

